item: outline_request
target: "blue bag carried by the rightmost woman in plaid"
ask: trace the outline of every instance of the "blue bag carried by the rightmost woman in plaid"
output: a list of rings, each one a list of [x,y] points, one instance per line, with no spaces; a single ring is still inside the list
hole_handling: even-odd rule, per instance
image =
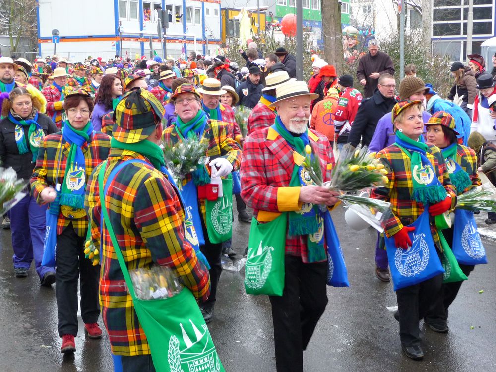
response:
[[[488,263],[486,250],[477,231],[474,212],[455,209],[455,225],[453,229],[453,248],[451,249],[458,263],[479,265]]]

